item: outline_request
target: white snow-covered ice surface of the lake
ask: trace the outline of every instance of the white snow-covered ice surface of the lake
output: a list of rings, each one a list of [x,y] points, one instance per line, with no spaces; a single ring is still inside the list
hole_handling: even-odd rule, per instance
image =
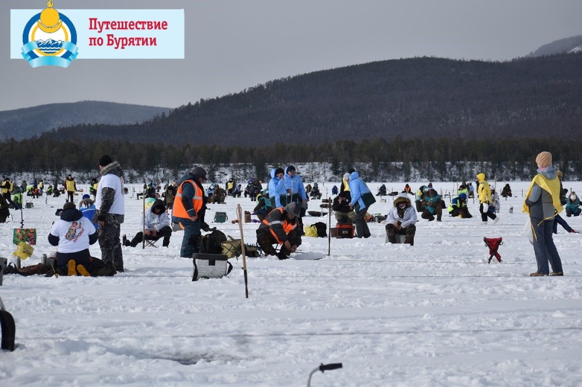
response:
[[[582,236],[562,227],[554,236],[565,277],[528,277],[536,267],[522,234],[528,182],[510,185],[517,198],[501,198],[496,225],[481,225],[469,199],[473,218],[421,219],[414,246],[385,245],[385,225],[370,223],[370,239],[332,239],[321,260],[247,259],[249,299],[240,260],[228,277],[191,282],[182,232],[170,248],[123,247],[126,271],[111,278],[5,275],[0,295],[16,320],[17,348],[0,353],[0,386],[302,386],[314,367],[338,362],[342,369],[317,372],[311,385],[580,385]],[[404,183],[386,186],[402,191]],[[434,187],[444,193],[453,184]],[[580,182],[564,187],[582,191]],[[24,209],[24,225],[38,230],[29,265],[54,249],[47,235],[65,199],[25,199],[34,208]],[[126,197],[128,238],[139,231],[141,203]],[[228,198],[207,212],[212,220],[226,211],[226,223],[211,225],[235,238],[237,203],[254,207]],[[311,200],[310,210],[320,203]],[[388,197],[370,212],[390,206]],[[20,213],[12,216],[0,224],[5,257],[20,224]],[[582,230],[582,217],[562,216]],[[316,221],[327,217],[304,218]],[[247,243],[257,226],[243,224]],[[484,236],[503,237],[503,263],[487,264]],[[327,238],[300,246],[327,249]],[[91,253],[101,257],[98,243]]]

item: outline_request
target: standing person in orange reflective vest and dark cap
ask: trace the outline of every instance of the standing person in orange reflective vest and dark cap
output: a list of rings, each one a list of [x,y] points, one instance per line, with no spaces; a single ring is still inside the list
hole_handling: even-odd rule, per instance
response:
[[[201,229],[209,230],[204,223],[206,212],[206,198],[202,183],[206,179],[206,171],[202,167],[195,167],[189,174],[178,181],[178,191],[172,209],[172,221],[180,223],[184,228],[180,257],[191,258],[198,253],[198,239]]]

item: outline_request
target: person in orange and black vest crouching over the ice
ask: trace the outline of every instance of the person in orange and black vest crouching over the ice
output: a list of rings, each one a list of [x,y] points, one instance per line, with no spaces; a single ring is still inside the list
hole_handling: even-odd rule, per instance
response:
[[[275,255],[279,259],[288,259],[290,253],[301,245],[300,228],[297,227],[301,214],[301,206],[289,203],[285,207],[277,207],[262,220],[257,228],[257,244],[261,246],[265,255]],[[279,253],[273,245],[281,246]]]

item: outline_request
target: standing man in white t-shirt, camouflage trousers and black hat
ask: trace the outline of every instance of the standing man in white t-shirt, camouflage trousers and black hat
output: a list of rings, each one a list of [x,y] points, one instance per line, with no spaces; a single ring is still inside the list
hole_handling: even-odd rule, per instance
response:
[[[99,224],[101,259],[113,263],[116,271],[123,271],[123,253],[120,242],[120,224],[125,217],[123,199],[123,171],[118,162],[105,155],[99,159],[101,180],[95,196],[95,216]]]

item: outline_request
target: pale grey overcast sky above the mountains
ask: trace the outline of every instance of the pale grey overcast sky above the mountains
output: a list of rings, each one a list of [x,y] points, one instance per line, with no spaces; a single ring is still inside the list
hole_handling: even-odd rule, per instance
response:
[[[434,55],[508,60],[582,34],[582,0],[54,0],[56,9],[180,9],[183,60],[76,60],[33,69],[9,59],[0,0],[0,110],[87,99],[177,107],[266,81],[375,60]]]

